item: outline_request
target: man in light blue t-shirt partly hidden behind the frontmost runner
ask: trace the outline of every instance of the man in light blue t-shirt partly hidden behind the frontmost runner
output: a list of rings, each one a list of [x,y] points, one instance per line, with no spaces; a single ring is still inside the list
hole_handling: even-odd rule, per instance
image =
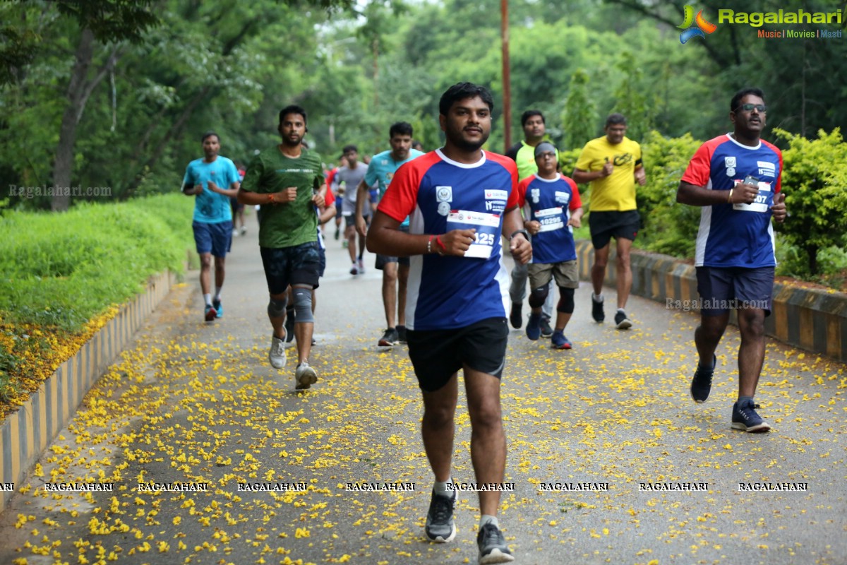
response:
[[[412,149],[412,125],[397,122],[388,130],[390,150],[377,153],[368,164],[368,172],[357,187],[356,230],[364,237],[368,234],[368,222],[364,218],[365,197],[368,189],[379,185],[379,198],[391,184],[391,179],[400,165],[420,157],[424,153]],[[379,200],[379,198],[377,200]],[[409,230],[409,219],[400,224],[401,230]],[[409,258],[397,258],[393,255],[376,256],[376,268],[382,270],[382,303],[385,307],[385,323],[388,324],[377,345],[393,346],[397,342],[406,342],[406,286],[409,280]],[[394,325],[395,317],[398,324]]]

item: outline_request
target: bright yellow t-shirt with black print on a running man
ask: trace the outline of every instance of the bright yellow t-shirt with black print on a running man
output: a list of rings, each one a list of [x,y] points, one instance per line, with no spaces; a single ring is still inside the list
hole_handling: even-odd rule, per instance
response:
[[[606,136],[598,137],[585,144],[576,168],[597,171],[606,163],[615,169],[609,176],[592,180],[591,212],[617,210],[625,212],[635,207],[635,162],[641,160],[641,146],[627,136],[617,145],[612,145]]]

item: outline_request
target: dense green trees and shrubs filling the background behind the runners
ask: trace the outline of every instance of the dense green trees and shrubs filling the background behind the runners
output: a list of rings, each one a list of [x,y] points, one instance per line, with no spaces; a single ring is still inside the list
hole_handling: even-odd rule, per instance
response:
[[[847,37],[764,39],[756,27],[721,24],[683,45],[686,2],[508,3],[512,141],[527,108],[545,113],[563,151],[600,135],[606,114],[626,114],[628,136],[650,151],[650,184],[639,196],[650,211],[643,243],[680,256],[698,211],[673,206],[679,167],[698,142],[729,129],[736,89],[766,91],[768,126],[786,133],[768,129],[764,137],[783,148],[808,152],[803,143],[847,125]],[[847,22],[836,0],[705,0],[700,8],[712,23],[718,8],[840,10]],[[217,131],[222,154],[246,163],[277,141],[277,113],[291,102],[307,108],[307,141],[327,163],[347,143],[363,153],[385,149],[388,126],[400,119],[432,149],[441,142],[438,97],[458,80],[494,91],[498,122],[489,147],[505,150],[500,0],[7,2],[0,22],[0,178],[10,188],[105,186],[117,200],[174,191],[185,164],[201,155],[204,131]],[[839,142],[840,135],[818,158],[843,154]],[[795,265],[786,269],[838,270],[844,223],[833,221],[843,213],[799,196],[822,186],[829,187],[824,196],[843,194],[844,174],[839,163],[792,163],[805,163],[805,173],[786,183],[789,206],[798,191],[794,218],[813,221],[828,237],[814,245],[784,237],[793,247],[783,254]],[[0,193],[0,210],[86,200],[13,192]]]

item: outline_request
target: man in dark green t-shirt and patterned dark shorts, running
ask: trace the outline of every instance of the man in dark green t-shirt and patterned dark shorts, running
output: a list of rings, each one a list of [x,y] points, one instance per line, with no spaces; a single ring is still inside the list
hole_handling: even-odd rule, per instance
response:
[[[296,388],[307,389],[318,381],[309,366],[314,318],[312,291],[318,288],[320,252],[318,215],[324,206],[324,173],[317,153],[302,147],[306,110],[286,106],[278,126],[282,143],[253,158],[241,181],[238,201],[261,204],[259,250],[268,280],[268,319],[274,327],[268,359],[274,368],[284,368],[286,289],[294,294],[297,340]]]

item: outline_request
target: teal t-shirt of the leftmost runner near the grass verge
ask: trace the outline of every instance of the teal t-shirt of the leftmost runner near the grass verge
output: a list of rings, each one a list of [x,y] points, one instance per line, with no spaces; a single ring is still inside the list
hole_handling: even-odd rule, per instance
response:
[[[206,163],[202,159],[188,163],[182,184],[203,187],[203,191],[195,197],[194,221],[202,224],[232,221],[230,197],[211,191],[208,187],[209,180],[213,180],[214,184],[221,188],[230,188],[232,183],[239,180],[235,163],[220,155],[212,163]]]

